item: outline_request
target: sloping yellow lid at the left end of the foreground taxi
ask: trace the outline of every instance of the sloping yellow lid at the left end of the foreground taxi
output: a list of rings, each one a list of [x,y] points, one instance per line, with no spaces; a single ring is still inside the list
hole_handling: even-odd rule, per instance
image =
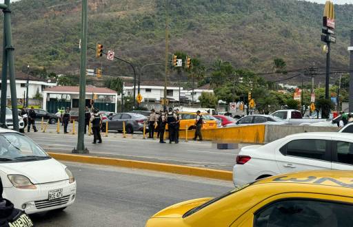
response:
[[[152,218],[177,218],[177,217],[183,217],[183,215],[191,210],[192,208],[195,208],[196,206],[201,206],[205,202],[210,201],[213,198],[201,198],[201,199],[192,199],[188,200],[185,202],[181,202],[179,204],[174,204],[172,206],[169,206],[161,211],[159,213],[155,214],[152,216]]]

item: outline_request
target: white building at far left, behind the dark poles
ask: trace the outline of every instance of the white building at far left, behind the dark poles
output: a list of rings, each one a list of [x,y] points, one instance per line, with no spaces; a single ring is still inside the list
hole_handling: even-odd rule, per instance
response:
[[[17,72],[15,74],[16,78],[16,93],[17,93],[17,102],[18,105],[23,105],[23,101],[26,100],[26,92],[27,92],[27,79],[28,79],[28,102],[29,105],[42,105],[42,100],[38,98],[34,98],[39,94],[43,95],[43,90],[48,87],[56,86],[57,83],[52,83],[50,80],[44,80],[41,78],[37,78],[35,76],[30,76],[24,74],[23,72]],[[6,97],[8,99],[8,103],[10,104],[11,99],[11,91],[10,91],[10,80],[8,79],[8,86],[6,91]],[[1,89],[1,80],[0,80],[0,89]],[[0,94],[1,96],[1,94]]]

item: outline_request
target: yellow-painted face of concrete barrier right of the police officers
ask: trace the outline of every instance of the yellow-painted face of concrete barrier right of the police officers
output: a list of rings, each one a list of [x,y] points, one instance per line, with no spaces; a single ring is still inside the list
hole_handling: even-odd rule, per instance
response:
[[[244,127],[230,127],[219,129],[201,130],[203,140],[212,140],[215,142],[243,142],[243,143],[264,143],[265,125],[251,125]],[[188,138],[186,137],[188,136]],[[194,130],[183,130],[179,133],[179,138],[191,140],[194,136]]]

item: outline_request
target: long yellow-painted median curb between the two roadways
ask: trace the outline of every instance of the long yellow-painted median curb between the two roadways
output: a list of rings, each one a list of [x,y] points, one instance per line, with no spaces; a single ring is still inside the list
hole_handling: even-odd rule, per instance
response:
[[[81,162],[88,164],[101,164],[107,166],[120,166],[131,169],[147,169],[150,171],[160,171],[165,173],[177,173],[182,175],[192,175],[196,177],[212,178],[216,180],[232,181],[231,171],[216,169],[204,169],[192,166],[181,166],[176,164],[164,164],[156,162],[142,162],[134,160],[123,160],[117,158],[101,158],[87,155],[72,155],[64,153],[48,153],[52,158],[68,162]]]

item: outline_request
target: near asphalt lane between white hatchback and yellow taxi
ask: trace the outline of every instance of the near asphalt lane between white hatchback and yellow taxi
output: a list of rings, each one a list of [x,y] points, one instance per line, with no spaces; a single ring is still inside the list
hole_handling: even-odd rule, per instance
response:
[[[144,226],[157,211],[188,199],[215,197],[231,182],[153,171],[65,162],[77,201],[61,212],[32,215],[36,226]]]

